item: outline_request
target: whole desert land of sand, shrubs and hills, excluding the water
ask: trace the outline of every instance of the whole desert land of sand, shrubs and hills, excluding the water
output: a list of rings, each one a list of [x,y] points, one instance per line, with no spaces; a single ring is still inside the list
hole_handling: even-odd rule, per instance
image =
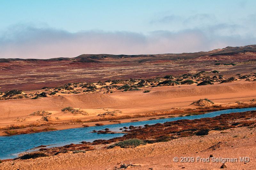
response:
[[[255,45],[182,54],[0,59],[0,72],[1,136],[256,106]],[[27,154],[22,153],[2,160],[0,169],[253,169],[255,116],[251,111],[130,127],[116,139],[42,147],[35,153],[43,156],[35,159],[22,159]],[[133,139],[138,145],[117,144]],[[250,161],[174,162],[174,157]]]

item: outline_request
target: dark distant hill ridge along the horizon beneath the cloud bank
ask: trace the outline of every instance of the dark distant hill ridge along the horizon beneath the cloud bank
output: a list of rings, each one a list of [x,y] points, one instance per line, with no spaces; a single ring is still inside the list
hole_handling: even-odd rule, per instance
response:
[[[238,55],[243,56],[238,57]],[[65,64],[82,64],[82,63],[112,63],[112,62],[132,62],[132,63],[145,63],[161,60],[188,60],[188,59],[218,59],[225,60],[243,60],[250,59],[250,55],[254,58],[256,55],[256,45],[248,45],[243,47],[226,47],[222,49],[215,49],[208,52],[196,52],[196,53],[181,53],[181,54],[153,54],[153,55],[111,55],[111,54],[82,54],[73,58],[51,58],[51,59],[0,59],[1,63],[8,62],[28,62],[28,63],[40,63],[40,62],[60,62]],[[238,58],[237,58],[238,57]]]

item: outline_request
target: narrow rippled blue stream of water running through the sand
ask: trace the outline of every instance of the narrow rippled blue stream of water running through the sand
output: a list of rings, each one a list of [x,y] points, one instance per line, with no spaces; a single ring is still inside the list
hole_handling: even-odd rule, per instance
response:
[[[31,133],[23,135],[14,136],[2,136],[0,137],[0,159],[9,159],[17,157],[17,153],[24,152],[28,149],[34,148],[39,145],[51,145],[61,146],[65,144],[74,143],[77,144],[82,141],[92,142],[96,139],[110,139],[114,137],[121,137],[124,134],[97,134],[90,133],[92,130],[102,130],[109,128],[112,131],[121,131],[120,128],[124,126],[144,126],[145,124],[152,125],[156,123],[171,122],[181,119],[200,119],[204,117],[215,117],[221,114],[235,113],[235,112],[245,112],[256,110],[256,107],[252,108],[241,108],[241,109],[228,109],[216,112],[210,112],[203,115],[193,115],[184,117],[173,117],[165,119],[155,119],[141,122],[129,122],[129,123],[119,123],[104,126],[93,126],[87,128],[74,128],[65,130],[56,130],[40,133]]]

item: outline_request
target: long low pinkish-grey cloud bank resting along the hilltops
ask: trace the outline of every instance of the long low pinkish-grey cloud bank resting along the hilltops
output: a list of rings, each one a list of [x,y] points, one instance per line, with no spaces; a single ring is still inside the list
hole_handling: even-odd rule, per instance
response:
[[[179,32],[158,30],[148,34],[101,30],[70,33],[50,27],[15,25],[0,34],[0,58],[182,53],[243,46],[255,42],[256,38],[253,36],[226,36],[197,28]]]

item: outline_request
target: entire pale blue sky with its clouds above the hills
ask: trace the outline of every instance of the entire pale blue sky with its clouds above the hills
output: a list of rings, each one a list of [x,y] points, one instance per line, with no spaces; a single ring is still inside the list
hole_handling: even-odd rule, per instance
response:
[[[0,58],[256,44],[255,0],[0,0]]]

